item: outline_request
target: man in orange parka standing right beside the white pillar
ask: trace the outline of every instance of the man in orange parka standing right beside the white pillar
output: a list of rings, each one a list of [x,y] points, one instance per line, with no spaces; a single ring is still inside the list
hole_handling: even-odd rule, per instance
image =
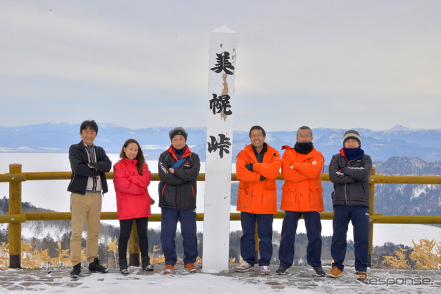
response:
[[[243,235],[240,238],[240,255],[243,263],[236,271],[252,271],[254,267],[254,232],[256,221],[260,239],[258,264],[263,274],[269,274],[273,253],[272,233],[274,213],[277,213],[276,178],[280,174],[280,154],[265,143],[265,130],[255,125],[249,130],[251,144],[239,152],[236,175],[239,182],[237,210]]]

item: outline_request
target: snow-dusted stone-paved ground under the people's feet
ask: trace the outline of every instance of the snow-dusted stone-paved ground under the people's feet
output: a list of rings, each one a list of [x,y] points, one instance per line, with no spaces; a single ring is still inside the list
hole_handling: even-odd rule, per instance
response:
[[[370,282],[360,282],[346,269],[337,279],[317,277],[312,269],[293,266],[291,275],[265,275],[258,271],[218,275],[185,274],[182,266],[178,273],[163,275],[162,267],[153,273],[131,268],[123,276],[117,270],[110,273],[89,274],[83,271],[79,279],[69,277],[65,270],[14,270],[0,271],[0,293],[17,291],[43,291],[43,293],[440,293],[440,271],[398,271],[370,269]],[[271,271],[276,268],[271,267]],[[329,266],[325,267],[325,271]],[[424,280],[423,280],[424,279]]]

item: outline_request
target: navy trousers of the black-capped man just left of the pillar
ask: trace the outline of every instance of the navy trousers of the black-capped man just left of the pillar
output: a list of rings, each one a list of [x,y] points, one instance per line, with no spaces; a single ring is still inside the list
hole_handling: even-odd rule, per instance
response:
[[[196,237],[196,211],[194,209],[161,208],[161,244],[165,264],[176,264],[176,228],[181,222],[184,247],[184,264],[196,262],[198,257],[198,238]]]

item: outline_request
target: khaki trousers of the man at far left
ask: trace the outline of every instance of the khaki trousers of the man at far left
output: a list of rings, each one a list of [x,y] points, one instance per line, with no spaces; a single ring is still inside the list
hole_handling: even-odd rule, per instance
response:
[[[101,218],[101,193],[70,194],[72,235],[70,236],[70,261],[72,266],[81,262],[81,236],[84,222],[87,225],[86,260],[98,257],[98,237]]]

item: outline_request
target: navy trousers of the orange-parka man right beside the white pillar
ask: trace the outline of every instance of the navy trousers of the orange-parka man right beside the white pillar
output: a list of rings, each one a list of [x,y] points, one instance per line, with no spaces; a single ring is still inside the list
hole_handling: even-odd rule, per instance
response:
[[[240,212],[240,224],[242,224],[242,237],[240,238],[240,255],[242,259],[254,266],[254,249],[256,240],[254,233],[256,230],[260,239],[258,260],[259,266],[269,266],[273,255],[273,218],[272,214],[256,214],[249,212]]]

